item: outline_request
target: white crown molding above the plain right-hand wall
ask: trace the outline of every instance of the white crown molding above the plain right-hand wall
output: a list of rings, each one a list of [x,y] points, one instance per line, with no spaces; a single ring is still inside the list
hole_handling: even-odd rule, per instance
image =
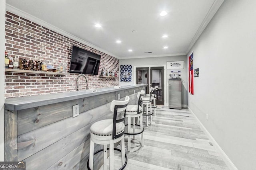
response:
[[[196,31],[196,33],[195,33],[194,37],[192,38],[192,40],[190,41],[190,44],[188,45],[188,49],[186,50],[186,54],[188,54],[188,52],[191,50],[193,45],[196,43],[197,39],[200,37],[200,35],[204,31],[204,29],[206,28],[208,23],[212,20],[213,16],[216,14],[216,12],[218,11],[218,9],[220,8],[220,6],[221,6],[221,4],[223,2],[224,2],[224,0],[215,0],[213,2],[210,10],[206,14],[206,16],[205,16],[204,20],[202,21],[200,27]]]

